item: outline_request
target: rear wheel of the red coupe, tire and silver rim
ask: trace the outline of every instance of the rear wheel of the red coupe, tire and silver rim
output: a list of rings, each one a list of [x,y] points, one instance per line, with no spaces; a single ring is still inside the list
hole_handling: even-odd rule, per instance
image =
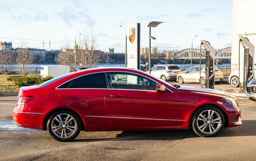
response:
[[[47,131],[55,140],[71,141],[79,135],[81,121],[74,112],[65,110],[57,111],[49,117]]]

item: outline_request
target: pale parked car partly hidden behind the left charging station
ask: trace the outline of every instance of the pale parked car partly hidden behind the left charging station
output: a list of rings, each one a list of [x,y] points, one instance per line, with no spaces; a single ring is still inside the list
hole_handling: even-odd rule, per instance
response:
[[[201,66],[201,77],[199,71],[200,66],[190,67],[184,72],[179,73],[176,81],[181,84],[184,82],[201,82],[202,85],[205,85],[205,66]],[[214,77],[217,84],[223,80],[223,73],[217,67],[214,67]]]

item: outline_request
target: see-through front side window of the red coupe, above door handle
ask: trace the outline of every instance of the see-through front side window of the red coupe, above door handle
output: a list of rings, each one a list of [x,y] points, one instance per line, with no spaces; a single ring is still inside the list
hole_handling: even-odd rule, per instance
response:
[[[157,82],[144,76],[126,72],[108,72],[107,79],[110,89],[156,90]]]

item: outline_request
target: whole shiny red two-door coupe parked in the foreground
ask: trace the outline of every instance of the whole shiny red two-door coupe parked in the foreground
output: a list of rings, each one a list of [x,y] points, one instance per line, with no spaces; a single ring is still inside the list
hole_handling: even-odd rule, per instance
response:
[[[75,139],[81,130],[189,127],[209,137],[242,124],[231,94],[170,85],[143,71],[114,67],[71,72],[22,87],[13,120],[22,127],[47,130],[58,141]]]

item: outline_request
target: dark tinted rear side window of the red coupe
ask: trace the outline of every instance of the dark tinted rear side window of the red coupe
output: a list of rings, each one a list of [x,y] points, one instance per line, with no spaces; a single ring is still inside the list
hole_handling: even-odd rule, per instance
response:
[[[58,87],[58,89],[86,89],[86,88],[107,88],[107,81],[104,73],[94,73],[81,77],[77,77],[74,80],[68,81],[65,84]]]

